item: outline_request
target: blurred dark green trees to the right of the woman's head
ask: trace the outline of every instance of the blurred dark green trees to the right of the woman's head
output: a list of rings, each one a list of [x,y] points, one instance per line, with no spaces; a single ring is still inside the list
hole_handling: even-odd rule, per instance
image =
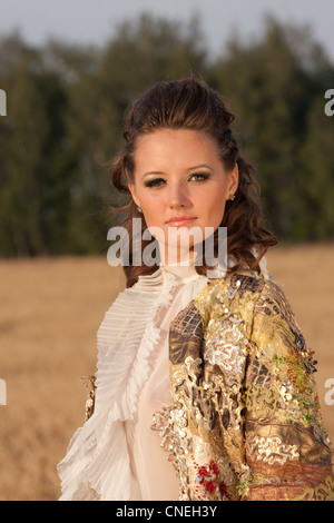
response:
[[[334,68],[322,49],[305,30],[268,19],[264,38],[230,42],[215,72],[257,168],[269,227],[285,240],[333,237],[334,120],[324,93]]]

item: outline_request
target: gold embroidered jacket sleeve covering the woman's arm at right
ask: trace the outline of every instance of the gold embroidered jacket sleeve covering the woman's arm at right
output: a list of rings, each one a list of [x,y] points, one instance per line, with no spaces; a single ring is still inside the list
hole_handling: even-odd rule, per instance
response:
[[[282,289],[268,282],[254,306],[244,383],[245,501],[334,500],[331,448],[313,352]]]

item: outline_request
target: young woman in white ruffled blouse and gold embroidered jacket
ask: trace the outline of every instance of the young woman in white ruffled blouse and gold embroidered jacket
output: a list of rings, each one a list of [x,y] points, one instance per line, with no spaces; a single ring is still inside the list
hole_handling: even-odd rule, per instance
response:
[[[194,78],[159,82],[127,115],[112,171],[131,197],[127,288],[98,333],[61,500],[333,499],[313,356],[265,270],[276,239],[232,121]]]

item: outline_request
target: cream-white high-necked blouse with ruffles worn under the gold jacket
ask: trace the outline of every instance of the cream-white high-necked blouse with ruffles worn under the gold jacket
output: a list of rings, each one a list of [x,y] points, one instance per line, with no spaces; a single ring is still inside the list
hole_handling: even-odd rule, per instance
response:
[[[224,277],[225,269],[210,276]],[[160,267],[106,313],[97,336],[95,412],[58,464],[61,501],[178,500],[176,471],[150,427],[154,413],[169,405],[170,322],[207,282],[194,266]]]

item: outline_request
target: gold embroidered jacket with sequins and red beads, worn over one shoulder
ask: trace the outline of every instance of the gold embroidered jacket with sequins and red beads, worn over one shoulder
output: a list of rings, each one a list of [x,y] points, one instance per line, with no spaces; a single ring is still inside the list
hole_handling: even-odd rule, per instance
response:
[[[282,289],[242,270],[173,322],[171,406],[156,413],[180,500],[333,500],[330,442]]]

